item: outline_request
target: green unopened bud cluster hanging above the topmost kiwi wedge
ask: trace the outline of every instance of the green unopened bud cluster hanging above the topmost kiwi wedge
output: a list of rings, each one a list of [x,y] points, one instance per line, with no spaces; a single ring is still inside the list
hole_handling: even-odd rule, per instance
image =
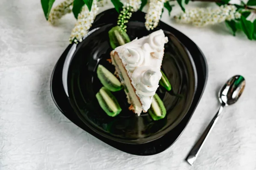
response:
[[[125,32],[127,27],[125,24],[128,23],[133,11],[133,7],[129,3],[126,3],[118,16],[117,25]]]

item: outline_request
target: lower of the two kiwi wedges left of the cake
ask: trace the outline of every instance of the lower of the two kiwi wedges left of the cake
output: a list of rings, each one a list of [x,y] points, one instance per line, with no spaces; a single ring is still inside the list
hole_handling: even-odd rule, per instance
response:
[[[108,116],[114,117],[122,111],[115,96],[113,96],[107,88],[102,87],[96,94],[96,98],[100,107],[108,114]]]

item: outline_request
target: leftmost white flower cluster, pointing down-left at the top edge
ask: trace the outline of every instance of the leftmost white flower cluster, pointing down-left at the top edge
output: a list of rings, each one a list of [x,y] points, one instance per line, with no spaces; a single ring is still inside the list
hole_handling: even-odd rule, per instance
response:
[[[53,8],[49,14],[48,22],[54,25],[56,20],[60,19],[65,14],[71,13],[73,1],[74,0],[65,0]]]

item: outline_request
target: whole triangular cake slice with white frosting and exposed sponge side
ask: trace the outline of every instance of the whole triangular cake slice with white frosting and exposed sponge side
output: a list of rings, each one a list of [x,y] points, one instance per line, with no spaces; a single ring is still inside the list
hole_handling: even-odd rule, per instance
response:
[[[138,115],[148,111],[159,86],[164,44],[167,42],[163,30],[158,30],[111,51],[112,64],[131,104],[129,109]]]

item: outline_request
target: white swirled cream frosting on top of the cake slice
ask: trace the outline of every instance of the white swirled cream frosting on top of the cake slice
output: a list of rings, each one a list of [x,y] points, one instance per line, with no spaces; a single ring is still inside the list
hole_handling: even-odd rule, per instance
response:
[[[122,59],[136,89],[135,92],[140,98],[143,111],[148,111],[152,97],[159,87],[164,44],[167,42],[168,38],[165,37],[163,30],[158,30],[114,50]]]

